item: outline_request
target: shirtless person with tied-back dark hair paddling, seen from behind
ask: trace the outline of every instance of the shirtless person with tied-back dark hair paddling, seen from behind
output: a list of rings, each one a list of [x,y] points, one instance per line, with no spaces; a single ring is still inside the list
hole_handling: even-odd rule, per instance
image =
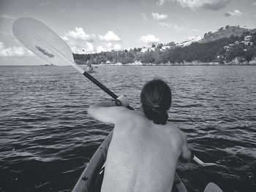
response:
[[[114,124],[105,162],[102,190],[168,191],[178,158],[189,161],[186,135],[167,122],[171,91],[162,80],[151,80],[140,93],[141,111],[128,110],[124,96],[89,107],[91,117]]]

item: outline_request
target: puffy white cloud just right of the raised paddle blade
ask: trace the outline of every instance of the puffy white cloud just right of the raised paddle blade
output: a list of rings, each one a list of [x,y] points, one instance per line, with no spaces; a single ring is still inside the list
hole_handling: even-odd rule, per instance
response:
[[[68,33],[66,33],[67,37],[71,37],[72,39],[76,39],[76,40],[83,40],[86,42],[94,42],[94,38],[95,35],[89,35],[86,34],[85,31],[83,31],[83,28],[81,27],[76,27],[75,31],[69,31]]]

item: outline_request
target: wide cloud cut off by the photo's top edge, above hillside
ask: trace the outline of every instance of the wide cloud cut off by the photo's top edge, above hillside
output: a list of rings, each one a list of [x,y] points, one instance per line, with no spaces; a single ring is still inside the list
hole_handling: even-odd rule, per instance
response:
[[[219,10],[227,6],[231,0],[174,0],[178,4],[181,4],[181,7],[189,7],[190,9],[211,9]]]

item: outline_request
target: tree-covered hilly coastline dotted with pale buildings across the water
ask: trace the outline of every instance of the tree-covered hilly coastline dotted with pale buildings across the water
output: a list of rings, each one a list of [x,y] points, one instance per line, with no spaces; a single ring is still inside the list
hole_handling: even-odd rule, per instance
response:
[[[245,42],[245,37],[248,36],[249,42]],[[256,64],[256,30],[226,26],[215,33],[209,31],[199,42],[192,42],[188,46],[181,47],[170,42],[165,45],[153,44],[148,50],[142,50],[143,48],[134,48],[73,55],[78,64],[89,62],[94,65],[129,65],[136,62],[145,65]]]

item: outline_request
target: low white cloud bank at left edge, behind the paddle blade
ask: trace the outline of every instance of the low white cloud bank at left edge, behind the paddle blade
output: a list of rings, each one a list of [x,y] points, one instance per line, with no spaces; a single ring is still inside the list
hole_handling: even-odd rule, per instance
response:
[[[25,47],[6,47],[4,42],[0,42],[0,56],[32,56],[30,50]]]

